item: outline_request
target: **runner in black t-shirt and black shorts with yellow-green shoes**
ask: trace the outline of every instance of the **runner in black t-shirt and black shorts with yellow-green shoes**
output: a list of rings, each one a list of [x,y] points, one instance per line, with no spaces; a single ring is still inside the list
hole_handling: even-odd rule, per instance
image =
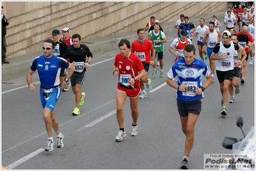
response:
[[[71,76],[71,86],[75,94],[76,107],[72,115],[80,115],[79,106],[83,106],[85,93],[81,93],[81,85],[85,80],[85,72],[90,67],[90,61],[92,60],[92,53],[85,44],[81,44],[81,36],[74,34],[72,36],[73,45],[67,47],[63,58],[69,58],[70,63],[73,63],[76,67],[74,74]],[[86,60],[86,56],[88,59]]]

